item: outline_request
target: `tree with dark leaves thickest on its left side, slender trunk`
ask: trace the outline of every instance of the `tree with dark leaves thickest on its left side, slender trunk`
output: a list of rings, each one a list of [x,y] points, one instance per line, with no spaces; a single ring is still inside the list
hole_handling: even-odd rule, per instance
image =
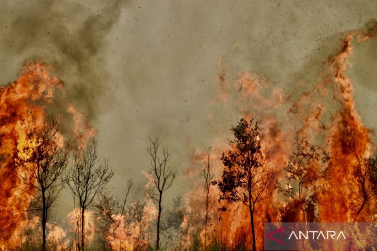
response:
[[[268,167],[268,152],[263,151],[263,137],[257,123],[241,119],[231,128],[234,140],[229,141],[230,149],[222,153],[224,164],[221,180],[214,181],[220,190],[219,201],[228,203],[241,201],[248,207],[253,237],[253,250],[256,251],[254,231],[254,211],[258,202],[268,198],[277,188],[275,174]],[[222,210],[226,210],[225,207]]]

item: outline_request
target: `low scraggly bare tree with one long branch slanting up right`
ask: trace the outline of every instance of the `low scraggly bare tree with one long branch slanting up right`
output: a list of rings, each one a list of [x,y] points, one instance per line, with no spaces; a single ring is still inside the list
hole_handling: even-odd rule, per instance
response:
[[[116,230],[121,224],[122,216],[126,214],[126,203],[127,198],[130,193],[131,187],[133,185],[132,179],[127,181],[126,196],[123,201],[119,201],[113,198],[107,191],[99,194],[97,202],[94,204],[94,207],[97,210],[97,225],[98,228],[103,232],[104,236],[107,236],[109,231],[112,231],[112,236],[116,239]],[[116,218],[116,217],[119,217]],[[112,247],[110,245],[110,249]]]

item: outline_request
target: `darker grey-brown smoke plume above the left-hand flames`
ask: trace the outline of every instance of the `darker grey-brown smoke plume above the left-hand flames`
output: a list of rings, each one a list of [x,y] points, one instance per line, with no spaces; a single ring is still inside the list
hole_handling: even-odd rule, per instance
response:
[[[65,82],[59,98],[90,119],[111,78],[103,50],[125,1],[22,1],[2,3],[1,82],[13,81],[24,60],[41,60]],[[95,6],[95,8],[93,8]],[[10,73],[11,76],[10,76]]]

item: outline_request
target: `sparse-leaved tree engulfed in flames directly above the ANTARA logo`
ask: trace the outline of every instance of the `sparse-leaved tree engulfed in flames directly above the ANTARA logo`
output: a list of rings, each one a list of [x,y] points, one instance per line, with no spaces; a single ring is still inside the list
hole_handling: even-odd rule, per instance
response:
[[[296,146],[285,166],[285,194],[300,205],[302,221],[313,221],[316,203],[316,181],[324,178],[329,154],[321,146],[311,144],[307,137],[295,137]]]

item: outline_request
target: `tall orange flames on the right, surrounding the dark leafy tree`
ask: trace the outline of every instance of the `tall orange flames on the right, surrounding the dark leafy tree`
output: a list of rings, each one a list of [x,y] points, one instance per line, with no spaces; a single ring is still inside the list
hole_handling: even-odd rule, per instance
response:
[[[306,136],[313,141],[320,138],[326,143],[326,148],[331,156],[328,167],[329,179],[316,181],[317,187],[320,187],[317,196],[317,220],[321,222],[362,222],[371,221],[374,217],[375,203],[369,201],[362,213],[355,218],[355,208],[360,206],[360,198],[355,192],[357,181],[352,175],[357,166],[355,154],[369,157],[372,155],[373,144],[371,141],[372,131],[366,128],[356,111],[353,99],[354,87],[344,72],[349,66],[349,57],[353,50],[352,43],[365,42],[375,37],[376,34],[377,24],[368,32],[359,30],[349,32],[343,40],[340,50],[325,61],[326,67],[320,73],[322,79],[314,86],[313,91],[311,93],[303,92],[294,103],[290,103],[291,97],[285,96],[282,90],[271,87],[265,76],[242,73],[233,85],[227,85],[226,71],[222,69],[219,73],[219,89],[216,94],[219,101],[231,103],[246,119],[258,119],[265,136],[264,147],[270,151],[269,164],[276,170],[279,181],[284,181],[283,169],[293,151],[293,144],[289,139],[293,139],[297,134]],[[267,91],[268,94],[262,94],[263,91]],[[231,102],[233,96],[236,98]],[[337,100],[336,110],[334,110],[334,103],[328,102],[329,99]],[[294,122],[290,123],[277,116],[279,113],[287,114],[287,118]],[[290,126],[290,124],[295,124],[295,126]],[[297,125],[299,126],[297,127]],[[327,130],[326,134],[324,130]],[[350,145],[350,140],[352,140],[349,135],[350,130],[353,135],[357,136],[353,151]],[[230,138],[230,135],[227,134],[225,138]],[[218,141],[217,139],[212,144],[219,147],[213,151],[213,153],[216,152],[216,157],[211,157],[211,159],[215,172],[221,173],[222,163],[218,159],[221,152],[226,151],[227,146],[219,145]],[[192,166],[201,163],[204,158],[204,154],[197,150],[193,155]],[[195,173],[194,170],[195,168],[190,167],[188,172]],[[311,172],[315,172],[315,170],[313,167]],[[195,208],[203,203],[198,199],[205,196],[200,187],[201,183],[198,182],[195,191],[186,194],[186,205],[189,211],[195,211]],[[211,196],[218,198],[218,193],[219,191],[214,189]],[[218,203],[216,205],[222,206]],[[257,210],[254,213],[257,246],[263,246],[263,223],[282,220],[277,213],[279,205],[284,205],[284,202],[281,201],[277,192],[268,200],[257,205]],[[218,240],[230,245],[244,238],[243,234],[246,233],[244,240],[250,244],[251,230],[248,210],[239,204],[225,206],[230,210],[221,214],[217,213],[217,217],[211,218],[211,226],[215,226],[216,229],[212,231],[217,231]],[[305,221],[302,215],[297,215],[299,212],[294,217],[285,218],[285,220]],[[221,223],[218,222],[219,218],[221,218]],[[198,222],[195,217],[188,221]],[[193,229],[193,231],[195,230]],[[201,237],[208,238],[207,241],[210,242],[213,236],[205,237],[205,231],[207,230],[202,227]]]

